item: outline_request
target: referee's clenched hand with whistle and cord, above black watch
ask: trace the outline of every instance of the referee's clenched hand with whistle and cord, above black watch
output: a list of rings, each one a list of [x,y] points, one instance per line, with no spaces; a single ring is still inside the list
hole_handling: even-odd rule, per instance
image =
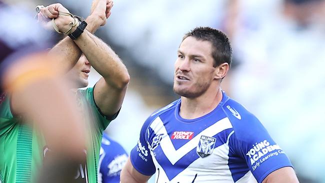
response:
[[[38,22],[40,22],[46,29],[55,29],[60,33],[73,32],[78,21],[72,17],[69,10],[62,4],[54,3],[46,7],[42,7],[37,14]],[[55,19],[55,21],[54,21]]]

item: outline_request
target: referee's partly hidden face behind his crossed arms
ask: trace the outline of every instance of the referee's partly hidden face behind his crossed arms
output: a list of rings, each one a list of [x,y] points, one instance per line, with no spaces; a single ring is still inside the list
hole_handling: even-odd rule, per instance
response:
[[[76,88],[86,87],[88,85],[90,66],[89,61],[82,54],[75,65],[67,72],[69,80],[75,84]]]

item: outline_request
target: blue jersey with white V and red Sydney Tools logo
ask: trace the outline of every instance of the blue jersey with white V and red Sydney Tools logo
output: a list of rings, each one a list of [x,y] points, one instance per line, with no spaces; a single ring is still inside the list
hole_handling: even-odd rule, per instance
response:
[[[134,168],[155,182],[261,182],[292,166],[259,120],[224,92],[195,119],[179,116],[178,99],[151,114],[131,150]],[[253,175],[253,176],[252,176]]]

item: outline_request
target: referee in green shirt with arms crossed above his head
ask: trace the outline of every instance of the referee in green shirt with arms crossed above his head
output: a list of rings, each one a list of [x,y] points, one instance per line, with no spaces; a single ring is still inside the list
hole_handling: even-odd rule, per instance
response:
[[[92,34],[100,25],[105,24],[111,6],[112,2],[107,0],[95,0],[91,14],[86,19],[88,23],[86,29],[74,40],[65,37],[50,50],[50,53],[61,56],[56,61],[62,70],[74,66],[67,75],[74,79],[75,88],[87,85],[90,64],[102,75],[94,87],[84,90],[72,89],[79,103],[80,115],[84,119],[80,123],[86,125],[84,130],[87,139],[84,151],[86,163],[80,164],[79,170],[71,174],[76,182],[97,181],[102,131],[110,120],[116,117],[129,81],[126,67],[119,57],[102,40]],[[42,16],[55,18],[58,30],[65,32],[73,19],[58,15],[58,12],[68,11],[61,4],[51,4],[41,10]],[[72,27],[71,32],[75,29],[76,27]],[[80,57],[81,53],[84,56]],[[6,128],[4,141],[2,142],[1,139],[0,142],[1,149],[4,149],[4,156],[0,159],[1,177],[3,182],[33,181],[31,175],[38,172],[42,161],[46,161],[53,152],[46,145],[39,131],[21,125],[20,119],[14,115],[15,100],[14,98],[10,100],[11,103],[8,98],[3,99],[0,111],[1,118],[8,119],[5,125],[1,126],[1,129]],[[43,175],[43,178],[45,178],[43,181],[47,181],[58,177],[48,173],[48,179],[46,180],[46,175]]]

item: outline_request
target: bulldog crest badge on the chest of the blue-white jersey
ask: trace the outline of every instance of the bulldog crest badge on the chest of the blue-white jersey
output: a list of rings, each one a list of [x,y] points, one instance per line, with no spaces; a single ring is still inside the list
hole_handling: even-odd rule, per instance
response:
[[[212,154],[216,138],[201,135],[196,146],[196,153],[200,157],[207,157]]]

